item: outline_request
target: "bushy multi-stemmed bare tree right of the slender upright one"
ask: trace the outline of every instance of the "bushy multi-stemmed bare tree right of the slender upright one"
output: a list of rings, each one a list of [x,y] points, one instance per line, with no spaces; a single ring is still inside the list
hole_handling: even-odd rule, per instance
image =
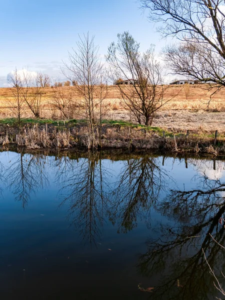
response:
[[[155,112],[165,103],[165,86],[162,84],[161,66],[155,59],[154,45],[140,53],[139,43],[125,31],[118,34],[118,41],[108,47],[106,56],[110,64],[110,77],[117,82],[123,103],[134,114],[138,123],[144,119],[145,125],[151,125]],[[121,84],[125,83],[125,84]]]

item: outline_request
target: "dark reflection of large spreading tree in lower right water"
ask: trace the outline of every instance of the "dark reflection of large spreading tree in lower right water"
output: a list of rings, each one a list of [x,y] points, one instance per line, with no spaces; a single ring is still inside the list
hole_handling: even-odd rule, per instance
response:
[[[208,299],[217,295],[202,249],[220,282],[225,283],[219,274],[225,267],[225,252],[210,236],[224,245],[224,224],[219,222],[225,212],[224,191],[224,183],[203,176],[200,188],[170,190],[158,201],[157,211],[172,224],[160,226],[160,237],[148,241],[147,252],[137,263],[144,276],[160,274],[162,283],[155,289],[154,299]]]

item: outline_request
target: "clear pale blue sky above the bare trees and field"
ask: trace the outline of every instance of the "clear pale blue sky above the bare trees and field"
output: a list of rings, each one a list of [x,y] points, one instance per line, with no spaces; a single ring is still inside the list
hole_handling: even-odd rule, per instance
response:
[[[125,30],[141,51],[153,43],[160,52],[165,40],[139,6],[136,0],[0,0],[0,86],[7,86],[15,67],[61,78],[62,60],[76,47],[78,34],[87,31],[95,35],[101,55]]]

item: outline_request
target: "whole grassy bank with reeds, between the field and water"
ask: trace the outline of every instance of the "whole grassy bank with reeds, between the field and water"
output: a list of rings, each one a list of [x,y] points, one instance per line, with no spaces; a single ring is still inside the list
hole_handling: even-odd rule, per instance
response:
[[[100,133],[99,133],[100,132]],[[225,152],[225,138],[196,132],[163,131],[159,127],[130,124],[126,121],[103,120],[94,125],[98,147],[160,150],[165,152],[210,153]],[[0,144],[14,144],[28,149],[37,148],[91,148],[85,120],[24,119],[19,133],[17,120],[0,120]]]

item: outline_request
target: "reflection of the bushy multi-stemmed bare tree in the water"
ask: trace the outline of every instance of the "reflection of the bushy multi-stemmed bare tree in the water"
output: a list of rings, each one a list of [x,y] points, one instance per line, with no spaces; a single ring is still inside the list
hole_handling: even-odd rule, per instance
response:
[[[111,219],[118,223],[118,232],[126,233],[144,219],[149,225],[151,206],[156,204],[160,191],[164,189],[166,172],[159,167],[156,157],[143,154],[127,156],[120,170],[115,199],[110,209]]]

